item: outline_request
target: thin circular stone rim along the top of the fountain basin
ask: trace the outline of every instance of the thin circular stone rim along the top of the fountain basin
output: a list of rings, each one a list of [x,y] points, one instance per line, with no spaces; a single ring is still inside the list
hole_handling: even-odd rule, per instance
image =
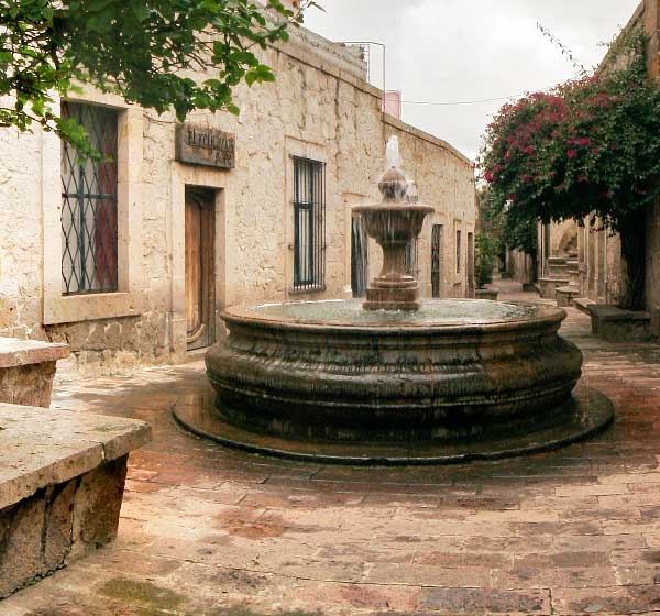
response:
[[[260,307],[272,306],[290,306],[306,304],[339,304],[354,300],[349,299],[321,299],[321,300],[302,300],[302,301],[277,301],[272,304],[261,304],[252,307],[235,306],[228,308],[221,312],[220,318],[228,324],[250,324],[253,327],[290,330],[290,331],[346,331],[352,334],[366,333],[378,334],[391,333],[410,333],[410,332],[433,332],[447,333],[453,336],[457,333],[487,333],[492,331],[517,331],[537,327],[553,327],[559,326],[566,318],[566,312],[562,308],[549,306],[546,304],[535,304],[531,301],[496,301],[494,304],[504,304],[509,306],[519,306],[522,308],[535,308],[537,314],[534,316],[517,317],[512,319],[494,320],[488,322],[465,322],[465,321],[448,321],[438,323],[432,321],[415,322],[414,317],[410,320],[402,320],[400,322],[383,322],[383,323],[355,323],[350,321],[328,322],[319,317],[318,320],[301,320],[287,317],[277,317],[273,315],[260,315],[255,309]],[[427,300],[428,301],[428,300]],[[435,301],[447,301],[443,299]],[[454,299],[452,301],[488,301],[485,299]]]

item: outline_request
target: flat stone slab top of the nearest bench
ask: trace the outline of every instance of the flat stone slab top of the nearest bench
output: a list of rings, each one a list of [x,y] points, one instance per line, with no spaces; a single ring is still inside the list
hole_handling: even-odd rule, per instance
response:
[[[150,440],[143,421],[0,404],[0,509]]]

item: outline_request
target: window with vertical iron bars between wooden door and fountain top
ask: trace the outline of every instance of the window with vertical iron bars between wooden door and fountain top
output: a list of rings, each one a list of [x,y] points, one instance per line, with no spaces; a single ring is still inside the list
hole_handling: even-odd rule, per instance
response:
[[[326,164],[294,158],[294,289],[326,284]]]

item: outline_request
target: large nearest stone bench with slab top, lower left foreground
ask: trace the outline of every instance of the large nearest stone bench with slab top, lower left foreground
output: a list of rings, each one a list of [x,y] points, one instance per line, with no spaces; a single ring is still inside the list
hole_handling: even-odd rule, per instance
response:
[[[0,404],[0,597],[117,537],[143,421]]]

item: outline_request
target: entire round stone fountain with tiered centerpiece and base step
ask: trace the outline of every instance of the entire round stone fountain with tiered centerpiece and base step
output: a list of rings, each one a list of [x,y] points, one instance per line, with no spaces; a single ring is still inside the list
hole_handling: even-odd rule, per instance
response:
[[[476,299],[420,301],[405,248],[432,207],[410,202],[388,143],[382,201],[354,208],[383,248],[366,301],[231,308],[206,358],[216,399],[175,408],[227,446],[348,464],[431,464],[556,448],[613,418],[575,385],[582,354],[561,309]]]

